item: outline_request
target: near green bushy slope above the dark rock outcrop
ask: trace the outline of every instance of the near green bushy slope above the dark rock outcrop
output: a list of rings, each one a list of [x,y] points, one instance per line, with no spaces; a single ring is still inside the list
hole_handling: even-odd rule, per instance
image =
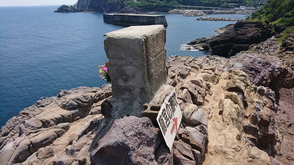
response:
[[[271,0],[253,13],[248,20],[270,21],[283,26],[294,26],[294,0]]]

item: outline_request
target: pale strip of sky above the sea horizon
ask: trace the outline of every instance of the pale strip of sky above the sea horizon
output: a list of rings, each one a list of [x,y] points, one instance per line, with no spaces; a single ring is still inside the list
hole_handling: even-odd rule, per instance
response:
[[[73,5],[78,0],[0,0],[0,6]]]

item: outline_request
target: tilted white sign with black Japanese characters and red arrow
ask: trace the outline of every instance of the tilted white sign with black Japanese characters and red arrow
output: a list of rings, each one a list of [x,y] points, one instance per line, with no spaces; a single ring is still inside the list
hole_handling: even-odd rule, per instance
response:
[[[166,98],[156,118],[169,150],[173,147],[178,127],[182,120],[182,113],[178,103],[176,90]]]

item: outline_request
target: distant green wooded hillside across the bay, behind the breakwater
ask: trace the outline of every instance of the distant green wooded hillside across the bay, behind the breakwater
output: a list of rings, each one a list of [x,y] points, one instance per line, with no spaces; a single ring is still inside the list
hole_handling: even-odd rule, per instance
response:
[[[254,0],[128,0],[125,1],[129,7],[136,6],[139,9],[168,11],[177,9],[174,5],[185,6],[206,6],[206,7],[222,7],[232,8],[230,4],[235,4],[235,7],[253,5],[258,6],[258,3]]]

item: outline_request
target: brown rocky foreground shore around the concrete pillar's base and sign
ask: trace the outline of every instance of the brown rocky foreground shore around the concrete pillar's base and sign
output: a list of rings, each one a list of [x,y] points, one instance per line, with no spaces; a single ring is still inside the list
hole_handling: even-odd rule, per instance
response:
[[[0,164],[293,163],[293,71],[277,45],[270,38],[231,58],[167,58],[166,85],[176,88],[183,115],[171,152],[152,117],[112,122],[111,85],[103,85],[60,90],[9,119]]]

